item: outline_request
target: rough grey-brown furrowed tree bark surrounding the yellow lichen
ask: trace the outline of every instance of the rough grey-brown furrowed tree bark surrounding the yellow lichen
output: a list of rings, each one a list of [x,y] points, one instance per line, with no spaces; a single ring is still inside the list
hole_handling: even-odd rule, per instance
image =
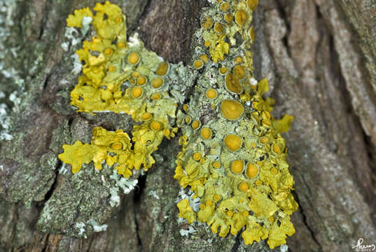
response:
[[[103,204],[109,195],[101,194],[100,177],[84,174],[81,185],[60,174],[62,144],[89,141],[97,125],[129,130],[132,120],[88,116],[69,106],[77,76],[71,76],[70,52],[61,48],[65,18],[95,1],[15,2],[13,24],[1,24],[9,34],[1,42],[8,49],[2,52],[0,91],[11,94],[22,79],[27,94],[13,109],[15,138],[0,141],[0,251],[270,251],[265,242],[245,246],[239,235],[222,239],[204,226],[195,239],[179,234],[184,227],[175,205],[177,139],[163,142],[157,164],[135,175],[138,187],[116,209]],[[169,62],[191,63],[206,0],[113,3],[127,15],[128,34],[139,32],[146,48]],[[284,134],[300,204],[289,251],[351,251],[359,238],[376,244],[376,2],[263,0],[253,22],[256,77],[270,80],[274,116],[295,117]],[[11,68],[18,74],[5,76],[3,70]],[[6,98],[1,102],[12,105]],[[51,199],[76,202],[78,210],[52,208],[52,219],[41,222]],[[46,232],[69,232],[61,229],[60,212],[78,220],[100,214],[109,226],[87,239]]]

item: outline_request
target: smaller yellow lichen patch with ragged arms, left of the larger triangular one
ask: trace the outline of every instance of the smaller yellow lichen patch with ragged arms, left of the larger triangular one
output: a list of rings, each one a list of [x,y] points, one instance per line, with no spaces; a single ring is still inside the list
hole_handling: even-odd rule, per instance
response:
[[[141,124],[134,125],[132,139],[121,130],[97,127],[91,144],[64,145],[59,158],[72,165],[74,173],[83,163],[93,161],[95,168],[102,169],[106,161],[127,178],[133,168],[148,170],[155,163],[151,154],[162,139],[174,137],[177,128],[169,118],[175,118],[179,97],[171,94],[179,87],[170,83],[181,78],[183,66],[164,62],[146,50],[137,36],[127,41],[125,15],[115,4],[97,3],[93,9],[95,15],[83,8],[67,19],[69,27],[82,27],[83,20],[90,18],[97,35],[83,41],[83,48],[76,51],[85,64],[83,76],[71,91],[71,104],[88,113],[127,113]]]

